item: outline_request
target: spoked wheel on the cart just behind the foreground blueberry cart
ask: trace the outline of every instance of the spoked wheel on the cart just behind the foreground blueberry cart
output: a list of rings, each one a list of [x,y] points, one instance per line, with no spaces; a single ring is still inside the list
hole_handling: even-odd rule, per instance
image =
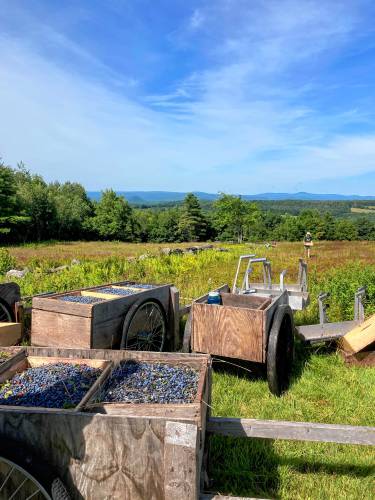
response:
[[[121,349],[161,352],[166,332],[167,319],[160,302],[152,299],[136,302],[125,316]]]

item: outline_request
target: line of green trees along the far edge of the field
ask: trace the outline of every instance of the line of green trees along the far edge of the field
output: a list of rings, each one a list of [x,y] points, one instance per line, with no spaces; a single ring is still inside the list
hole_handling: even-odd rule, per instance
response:
[[[319,209],[297,215],[264,210],[240,196],[221,194],[207,209],[188,194],[183,203],[136,208],[113,190],[91,200],[74,182],[47,183],[23,164],[0,162],[0,239],[45,240],[300,241],[306,231],[321,240],[375,240],[375,222],[334,217]]]

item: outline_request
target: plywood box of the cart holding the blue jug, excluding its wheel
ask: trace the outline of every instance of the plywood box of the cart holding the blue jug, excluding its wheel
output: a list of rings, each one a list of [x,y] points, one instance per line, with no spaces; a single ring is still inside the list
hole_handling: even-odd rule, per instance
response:
[[[222,305],[192,304],[194,352],[264,363],[273,313],[287,304],[287,292],[275,297],[221,293]]]

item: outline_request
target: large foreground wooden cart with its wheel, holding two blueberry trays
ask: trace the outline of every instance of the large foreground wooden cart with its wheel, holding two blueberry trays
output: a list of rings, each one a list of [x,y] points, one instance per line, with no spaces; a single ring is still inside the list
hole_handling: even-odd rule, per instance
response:
[[[190,366],[199,372],[197,395],[190,404],[107,404],[95,411],[90,394],[71,410],[0,406],[0,497],[19,487],[12,498],[197,499],[209,356],[28,347],[0,367],[0,382],[25,363],[69,359],[105,370],[120,360]]]

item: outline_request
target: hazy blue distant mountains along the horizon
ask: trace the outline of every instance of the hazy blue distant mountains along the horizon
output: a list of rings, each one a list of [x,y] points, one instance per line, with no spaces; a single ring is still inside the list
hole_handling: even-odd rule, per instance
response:
[[[99,200],[100,191],[88,191],[88,196],[93,200]],[[130,203],[167,203],[182,201],[187,193],[174,191],[117,191],[118,195],[125,196]],[[214,201],[218,194],[194,191],[200,200]],[[350,201],[350,200],[375,200],[375,196],[345,195],[345,194],[314,194],[314,193],[260,193],[241,195],[244,200],[305,200],[305,201]]]

